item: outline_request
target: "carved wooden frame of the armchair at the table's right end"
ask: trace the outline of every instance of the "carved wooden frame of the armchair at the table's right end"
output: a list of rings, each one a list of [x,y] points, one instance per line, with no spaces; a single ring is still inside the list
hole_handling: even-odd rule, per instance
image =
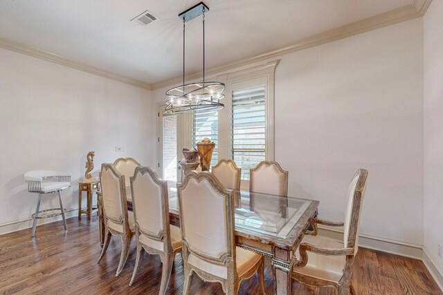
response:
[[[304,274],[298,274],[293,272],[293,278],[300,283],[305,285],[309,285],[311,287],[333,287],[336,294],[355,294],[354,288],[351,284],[352,278],[352,265],[354,264],[355,257],[355,242],[356,242],[356,234],[359,224],[360,211],[361,211],[361,198],[364,193],[366,180],[368,179],[368,171],[365,169],[359,169],[356,171],[354,177],[358,178],[356,182],[356,187],[354,191],[354,203],[352,204],[352,213],[350,219],[350,232],[347,239],[347,248],[343,249],[325,249],[319,248],[315,245],[311,245],[305,242],[299,247],[300,251],[300,260],[296,264],[296,267],[304,267],[307,265],[307,251],[321,254],[321,255],[333,255],[333,256],[346,256],[345,268],[343,269],[343,276],[338,281],[338,283],[331,282],[329,280],[322,280],[320,278],[314,278],[311,276],[306,276]],[[315,218],[312,220],[313,231],[311,231],[311,235],[316,236],[318,233],[317,225],[327,225],[330,227],[343,227],[344,222],[329,222],[326,220],[320,220]]]

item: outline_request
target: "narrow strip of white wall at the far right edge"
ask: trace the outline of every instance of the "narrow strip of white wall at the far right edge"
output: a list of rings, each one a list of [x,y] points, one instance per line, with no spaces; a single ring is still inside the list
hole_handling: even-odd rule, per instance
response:
[[[443,1],[424,16],[424,245],[443,275]]]

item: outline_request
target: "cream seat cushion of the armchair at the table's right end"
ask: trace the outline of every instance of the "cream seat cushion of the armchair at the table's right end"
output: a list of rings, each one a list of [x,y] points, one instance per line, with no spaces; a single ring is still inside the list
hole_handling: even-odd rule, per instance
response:
[[[343,249],[343,242],[320,236],[305,236],[302,242],[316,245],[319,248],[327,249]],[[305,267],[294,267],[295,277],[297,274],[304,274],[322,280],[337,283],[343,276],[345,268],[346,256],[327,256],[314,254],[307,251],[308,260]],[[300,252],[296,251],[296,256],[300,259]]]

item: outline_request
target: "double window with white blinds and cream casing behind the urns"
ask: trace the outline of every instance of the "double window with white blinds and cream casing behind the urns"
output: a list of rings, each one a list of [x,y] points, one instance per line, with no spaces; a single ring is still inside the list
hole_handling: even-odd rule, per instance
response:
[[[248,189],[249,170],[274,160],[274,74],[278,61],[215,77],[226,85],[224,108],[186,117],[183,146],[204,137],[215,142],[211,166],[232,159],[242,168],[240,187]]]

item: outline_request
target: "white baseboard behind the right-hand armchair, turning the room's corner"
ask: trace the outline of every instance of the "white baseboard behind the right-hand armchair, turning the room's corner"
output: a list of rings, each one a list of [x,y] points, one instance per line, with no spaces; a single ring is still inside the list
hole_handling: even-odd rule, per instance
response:
[[[336,240],[343,239],[342,230],[325,227],[323,225],[318,225],[318,235],[326,238],[334,238]],[[443,271],[437,267],[432,256],[423,245],[368,234],[359,235],[359,245],[372,250],[422,260],[435,280],[435,283],[437,283],[438,287],[440,287],[443,292]]]

